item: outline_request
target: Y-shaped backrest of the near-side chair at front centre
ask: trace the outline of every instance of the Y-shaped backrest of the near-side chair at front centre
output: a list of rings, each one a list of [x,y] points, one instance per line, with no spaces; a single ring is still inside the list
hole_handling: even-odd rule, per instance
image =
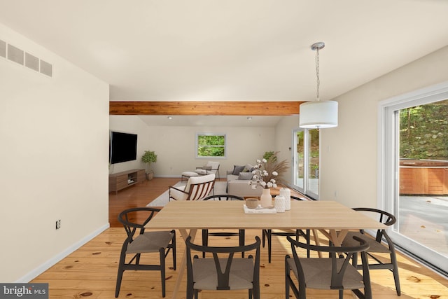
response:
[[[186,239],[187,247],[187,276],[193,277],[193,260],[191,251],[199,251],[204,253],[212,253],[216,274],[217,274],[217,290],[229,290],[230,289],[230,269],[232,268],[232,261],[234,260],[235,253],[247,252],[255,250],[255,259],[253,260],[253,284],[259,284],[260,277],[260,238],[255,237],[255,243],[244,246],[232,246],[232,247],[212,247],[193,244],[191,237]],[[197,256],[195,256],[197,258]],[[249,255],[248,258],[253,258]],[[224,269],[223,269],[224,267]]]

